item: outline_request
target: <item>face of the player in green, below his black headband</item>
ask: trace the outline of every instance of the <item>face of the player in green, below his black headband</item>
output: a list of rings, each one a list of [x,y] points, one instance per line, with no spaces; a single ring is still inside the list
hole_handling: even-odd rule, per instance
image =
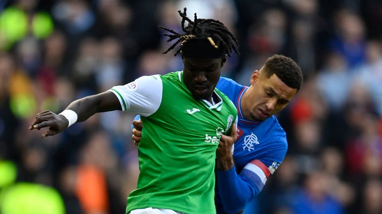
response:
[[[196,99],[210,100],[219,81],[222,58],[183,58],[183,81]]]

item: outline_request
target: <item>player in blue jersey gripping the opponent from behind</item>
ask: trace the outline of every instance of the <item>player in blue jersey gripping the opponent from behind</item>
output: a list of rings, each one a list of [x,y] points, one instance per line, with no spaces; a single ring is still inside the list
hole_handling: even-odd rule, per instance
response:
[[[217,150],[218,214],[241,213],[284,160],[286,133],[275,114],[295,96],[302,79],[298,65],[283,55],[269,57],[260,70],[255,70],[249,87],[220,78],[216,88],[236,105],[238,128],[233,154],[234,137],[221,138]],[[133,124],[133,140],[137,143],[142,124]]]

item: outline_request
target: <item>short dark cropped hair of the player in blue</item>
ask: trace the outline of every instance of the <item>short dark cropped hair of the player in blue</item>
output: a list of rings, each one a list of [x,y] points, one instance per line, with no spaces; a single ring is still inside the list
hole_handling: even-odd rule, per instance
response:
[[[297,89],[297,91],[301,88],[303,75],[300,67],[293,59],[275,54],[267,59],[264,67],[267,78],[276,74],[290,88]]]

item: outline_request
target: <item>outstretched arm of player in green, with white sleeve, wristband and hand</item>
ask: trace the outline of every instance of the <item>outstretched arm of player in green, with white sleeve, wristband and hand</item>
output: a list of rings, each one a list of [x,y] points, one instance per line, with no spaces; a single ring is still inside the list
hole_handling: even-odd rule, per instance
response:
[[[123,86],[85,97],[71,103],[59,115],[43,111],[29,127],[30,130],[49,127],[41,136],[60,133],[76,121],[85,121],[97,112],[124,110],[149,116],[160,106],[162,100],[162,79],[159,75],[143,76]]]

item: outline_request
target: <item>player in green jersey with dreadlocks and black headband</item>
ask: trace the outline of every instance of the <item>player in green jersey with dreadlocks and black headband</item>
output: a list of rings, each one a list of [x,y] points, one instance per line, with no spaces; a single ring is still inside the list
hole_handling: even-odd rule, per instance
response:
[[[165,34],[181,42],[183,71],[143,76],[123,86],[72,102],[63,112],[37,114],[30,130],[49,127],[55,135],[97,112],[126,110],[145,123],[138,147],[137,189],[127,199],[130,214],[214,214],[214,165],[222,135],[235,136],[237,111],[215,86],[226,55],[237,40],[219,21],[192,21],[182,13],[184,34]],[[188,26],[185,27],[185,21]],[[150,133],[150,134],[148,134]]]

